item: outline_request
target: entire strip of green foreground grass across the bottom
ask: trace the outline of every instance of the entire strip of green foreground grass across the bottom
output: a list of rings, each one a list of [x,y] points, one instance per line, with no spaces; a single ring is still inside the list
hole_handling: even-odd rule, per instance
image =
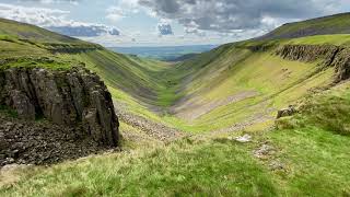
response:
[[[264,160],[253,157],[273,147]],[[22,172],[1,196],[342,196],[349,137],[317,127],[254,135],[254,142],[196,137]],[[336,160],[336,161],[335,161]],[[283,169],[271,170],[273,162]]]

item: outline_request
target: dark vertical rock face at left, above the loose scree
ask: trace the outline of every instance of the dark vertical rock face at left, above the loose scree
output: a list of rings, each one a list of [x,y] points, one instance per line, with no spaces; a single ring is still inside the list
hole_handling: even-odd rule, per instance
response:
[[[45,117],[74,128],[81,138],[90,137],[103,146],[118,144],[119,124],[110,93],[84,68],[10,68],[0,71],[0,105],[15,109],[19,118]]]

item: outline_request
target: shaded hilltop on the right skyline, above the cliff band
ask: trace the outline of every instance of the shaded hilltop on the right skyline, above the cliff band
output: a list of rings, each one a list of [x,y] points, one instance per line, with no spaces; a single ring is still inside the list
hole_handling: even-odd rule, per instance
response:
[[[296,38],[313,35],[349,34],[350,13],[288,23],[257,39]]]

